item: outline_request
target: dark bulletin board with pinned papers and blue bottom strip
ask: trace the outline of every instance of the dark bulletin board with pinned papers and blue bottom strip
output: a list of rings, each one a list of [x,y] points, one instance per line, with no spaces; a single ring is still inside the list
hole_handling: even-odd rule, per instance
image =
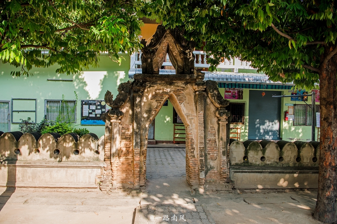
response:
[[[104,100],[81,100],[81,125],[105,125],[101,119],[103,113]]]

